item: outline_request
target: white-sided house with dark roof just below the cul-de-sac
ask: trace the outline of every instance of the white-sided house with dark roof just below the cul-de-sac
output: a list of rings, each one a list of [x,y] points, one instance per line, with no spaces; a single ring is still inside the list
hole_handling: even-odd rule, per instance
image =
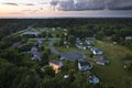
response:
[[[85,61],[78,62],[78,69],[79,70],[88,70],[91,68],[92,68],[92,65],[89,62],[85,62]]]

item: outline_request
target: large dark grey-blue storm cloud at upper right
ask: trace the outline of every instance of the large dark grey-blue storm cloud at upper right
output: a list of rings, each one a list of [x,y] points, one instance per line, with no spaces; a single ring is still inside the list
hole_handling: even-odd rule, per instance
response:
[[[132,10],[132,0],[52,0],[51,6],[63,11]]]

